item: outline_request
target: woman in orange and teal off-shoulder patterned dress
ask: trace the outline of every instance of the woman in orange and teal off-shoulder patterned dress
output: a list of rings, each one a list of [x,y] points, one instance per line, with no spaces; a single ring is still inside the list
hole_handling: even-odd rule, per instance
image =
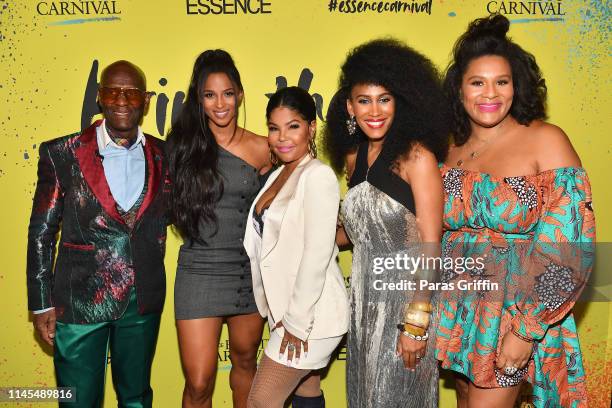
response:
[[[588,177],[568,137],[544,122],[546,87],[509,21],[473,21],[444,83],[454,144],[442,166],[443,256],[486,259],[442,281],[436,356],[457,374],[458,406],[512,407],[527,380],[536,407],[586,407],[571,313],[593,264]],[[495,284],[493,286],[492,284]]]

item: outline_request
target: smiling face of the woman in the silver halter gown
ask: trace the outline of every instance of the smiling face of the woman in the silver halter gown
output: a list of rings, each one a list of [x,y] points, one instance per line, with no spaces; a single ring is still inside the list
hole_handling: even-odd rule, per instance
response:
[[[395,98],[383,86],[358,84],[353,86],[346,101],[349,115],[368,139],[382,139],[389,131],[395,116]]]

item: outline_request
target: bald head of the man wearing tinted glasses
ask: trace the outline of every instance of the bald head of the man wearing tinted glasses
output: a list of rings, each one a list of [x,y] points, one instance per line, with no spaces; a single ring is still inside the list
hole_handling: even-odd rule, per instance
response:
[[[100,79],[98,103],[106,126],[114,137],[132,138],[149,104],[145,81],[134,66],[118,62],[106,68]]]

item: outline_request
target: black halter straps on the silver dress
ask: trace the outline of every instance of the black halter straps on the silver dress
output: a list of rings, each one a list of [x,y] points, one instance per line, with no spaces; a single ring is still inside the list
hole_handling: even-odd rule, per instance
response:
[[[383,148],[384,150],[384,148]],[[416,214],[414,196],[410,184],[391,171],[391,163],[385,160],[384,151],[380,152],[368,171],[368,142],[362,142],[357,149],[355,169],[349,180],[349,188],[367,180],[368,183],[397,201],[408,211]]]

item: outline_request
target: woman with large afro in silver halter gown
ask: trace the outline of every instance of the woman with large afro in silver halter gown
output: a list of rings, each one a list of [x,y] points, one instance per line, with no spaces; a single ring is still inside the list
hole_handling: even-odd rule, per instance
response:
[[[439,76],[421,54],[381,39],[349,53],[339,82],[324,145],[349,184],[336,234],[353,245],[348,405],[437,407],[434,302],[408,286],[434,273],[394,261],[439,255],[449,117]]]

